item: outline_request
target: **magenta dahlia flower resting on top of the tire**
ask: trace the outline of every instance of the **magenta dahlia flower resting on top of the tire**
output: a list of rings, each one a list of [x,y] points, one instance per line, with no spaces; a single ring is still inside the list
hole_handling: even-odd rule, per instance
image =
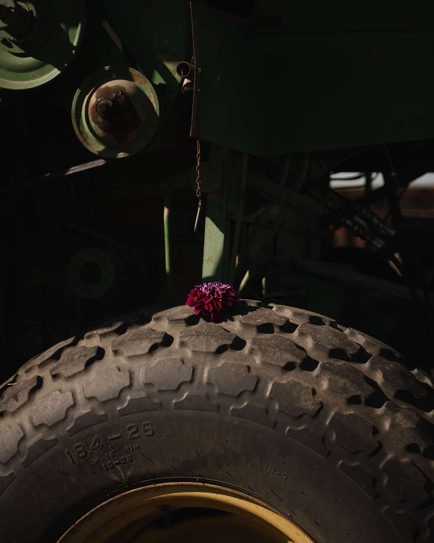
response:
[[[240,301],[231,286],[220,281],[196,285],[188,295],[186,304],[194,307],[196,315],[211,315],[211,322],[237,307]]]

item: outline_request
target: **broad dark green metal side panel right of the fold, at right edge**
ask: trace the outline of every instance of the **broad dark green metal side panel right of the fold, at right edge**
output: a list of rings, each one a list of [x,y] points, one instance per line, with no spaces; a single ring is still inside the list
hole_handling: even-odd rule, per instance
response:
[[[434,137],[434,30],[263,42],[270,73],[290,67],[264,87],[264,155]]]

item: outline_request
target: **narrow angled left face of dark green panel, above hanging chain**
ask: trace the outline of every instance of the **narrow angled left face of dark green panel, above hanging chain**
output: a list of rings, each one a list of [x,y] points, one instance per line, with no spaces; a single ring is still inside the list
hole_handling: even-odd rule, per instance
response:
[[[225,18],[196,4],[192,4],[192,20],[196,64],[192,136],[258,155],[263,47]]]

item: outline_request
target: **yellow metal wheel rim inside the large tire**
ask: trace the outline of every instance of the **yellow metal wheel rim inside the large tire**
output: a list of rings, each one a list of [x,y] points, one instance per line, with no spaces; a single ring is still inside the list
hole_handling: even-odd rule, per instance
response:
[[[289,519],[234,490],[165,483],[130,490],[95,507],[61,543],[314,543]]]

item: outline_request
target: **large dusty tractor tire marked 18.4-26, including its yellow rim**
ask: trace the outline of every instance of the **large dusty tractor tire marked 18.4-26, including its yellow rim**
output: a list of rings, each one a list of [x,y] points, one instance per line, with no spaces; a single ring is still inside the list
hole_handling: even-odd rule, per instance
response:
[[[4,543],[432,543],[434,390],[334,320],[144,308],[1,389]]]

